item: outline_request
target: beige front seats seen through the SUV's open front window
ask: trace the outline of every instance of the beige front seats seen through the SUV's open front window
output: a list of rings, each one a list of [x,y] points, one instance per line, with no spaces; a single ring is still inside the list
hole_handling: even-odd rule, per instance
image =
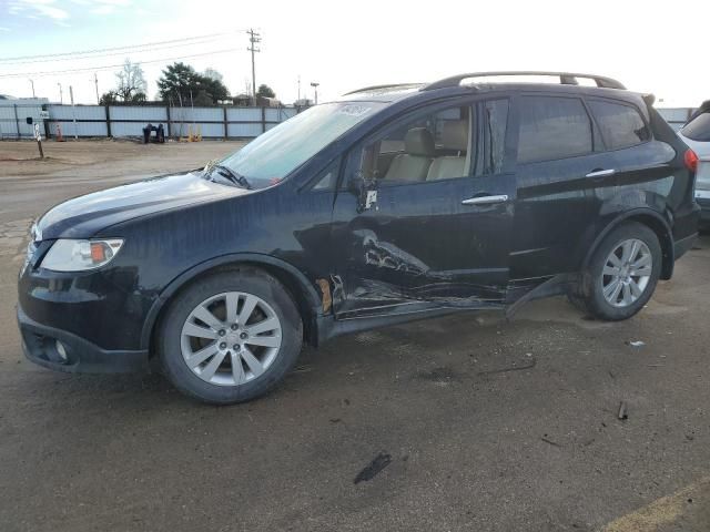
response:
[[[412,127],[404,137],[404,153],[396,155],[385,182],[437,181],[468,175],[471,121],[447,120],[442,123],[440,143],[427,127]]]

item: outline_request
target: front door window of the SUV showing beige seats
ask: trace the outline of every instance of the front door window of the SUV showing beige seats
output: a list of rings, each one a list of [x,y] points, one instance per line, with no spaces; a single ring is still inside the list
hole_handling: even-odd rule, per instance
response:
[[[381,184],[465,177],[470,168],[469,106],[417,112],[353,152],[356,171]]]

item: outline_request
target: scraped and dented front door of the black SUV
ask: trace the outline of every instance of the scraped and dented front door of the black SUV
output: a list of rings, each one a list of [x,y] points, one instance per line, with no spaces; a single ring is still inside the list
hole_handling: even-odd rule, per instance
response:
[[[351,152],[345,180],[372,180],[376,201],[358,205],[343,190],[335,202],[338,318],[505,300],[516,194],[507,110],[505,99],[419,110]]]

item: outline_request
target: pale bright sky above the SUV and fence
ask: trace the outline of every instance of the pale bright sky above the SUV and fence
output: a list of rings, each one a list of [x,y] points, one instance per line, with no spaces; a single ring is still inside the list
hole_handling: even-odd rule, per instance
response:
[[[59,101],[61,83],[65,103],[70,85],[77,103],[95,103],[94,72],[106,92],[125,59],[142,64],[150,98],[175,60],[217,70],[237,94],[251,82],[253,28],[256,84],[284,103],[298,96],[298,79],[302,98],[317,82],[327,101],[462,72],[564,70],[616,78],[662,106],[697,106],[710,99],[708,20],[708,0],[0,0],[0,94],[31,96],[32,80],[37,96]]]

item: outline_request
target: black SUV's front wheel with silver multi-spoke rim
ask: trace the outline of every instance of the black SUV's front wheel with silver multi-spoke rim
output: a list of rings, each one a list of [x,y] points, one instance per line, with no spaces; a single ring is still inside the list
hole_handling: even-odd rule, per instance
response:
[[[284,286],[243,267],[187,286],[158,335],[161,366],[175,388],[204,402],[233,405],[284,379],[301,352],[303,324]]]

